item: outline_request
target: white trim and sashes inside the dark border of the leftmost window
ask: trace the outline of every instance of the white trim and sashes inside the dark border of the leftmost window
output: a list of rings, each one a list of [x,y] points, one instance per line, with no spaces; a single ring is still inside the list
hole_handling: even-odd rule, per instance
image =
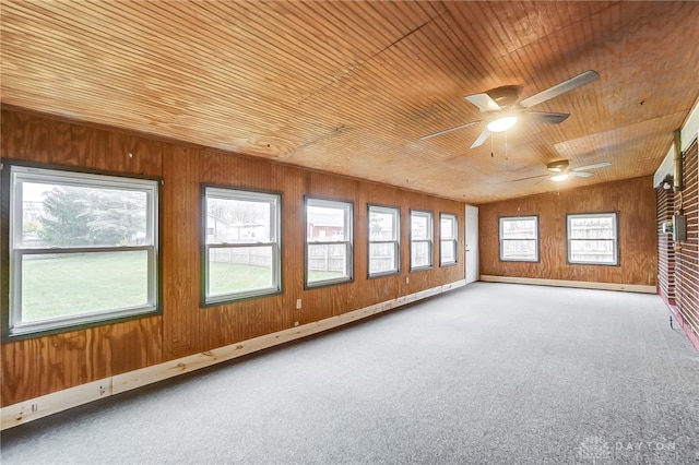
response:
[[[44,182],[57,186],[92,187],[107,189],[138,190],[146,192],[146,237],[144,246],[97,246],[97,247],[22,247],[16,241],[22,238],[23,182]],[[9,318],[8,336],[26,336],[36,333],[68,331],[74,326],[91,325],[117,319],[137,317],[158,311],[158,181],[153,179],[87,174],[80,171],[10,166],[10,253],[9,253]],[[32,254],[69,255],[73,253],[104,253],[146,251],[147,253],[147,302],[145,306],[121,307],[66,317],[55,317],[37,321],[22,320],[22,259]]]

